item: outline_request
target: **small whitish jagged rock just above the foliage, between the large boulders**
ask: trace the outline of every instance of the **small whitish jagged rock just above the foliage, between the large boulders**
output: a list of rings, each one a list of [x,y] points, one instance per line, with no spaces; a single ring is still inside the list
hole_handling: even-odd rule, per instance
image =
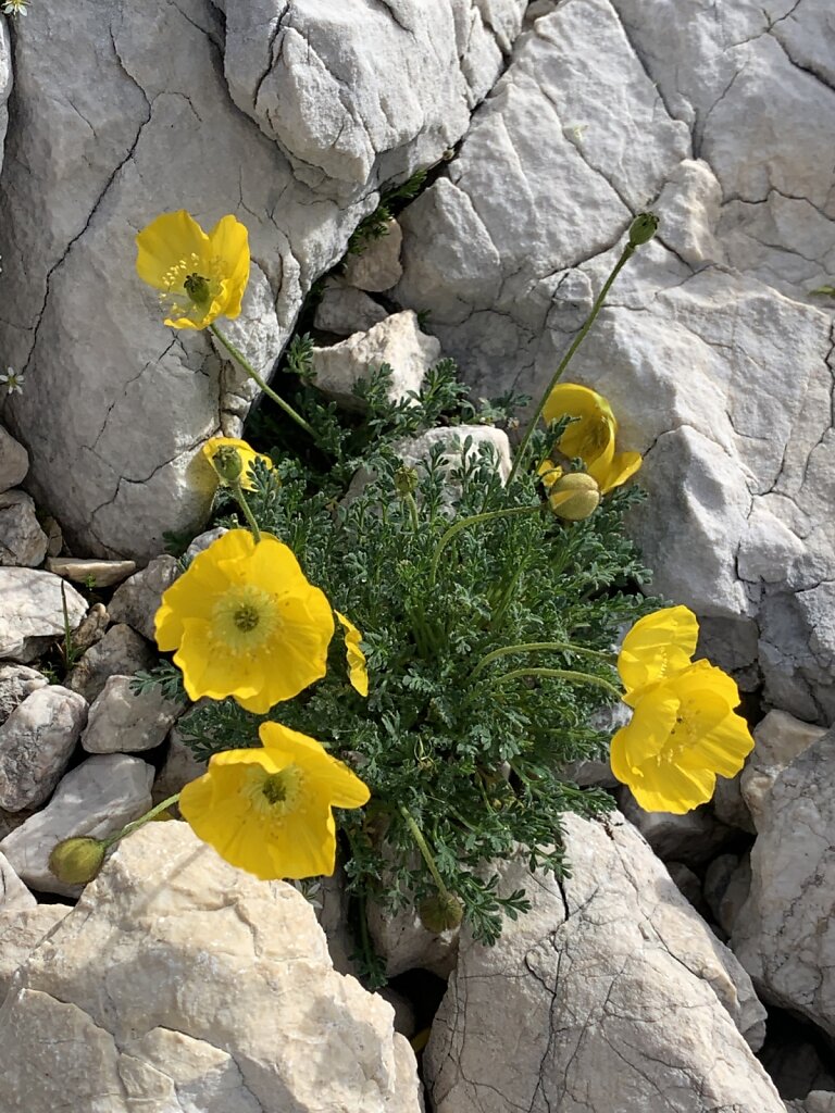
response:
[[[313,349],[316,386],[341,406],[361,410],[353,387],[370,368],[387,363],[394,374],[389,397],[399,402],[418,393],[429,368],[438,363],[441,345],[422,333],[414,313],[395,313],[367,333],[356,333],[332,347]]]

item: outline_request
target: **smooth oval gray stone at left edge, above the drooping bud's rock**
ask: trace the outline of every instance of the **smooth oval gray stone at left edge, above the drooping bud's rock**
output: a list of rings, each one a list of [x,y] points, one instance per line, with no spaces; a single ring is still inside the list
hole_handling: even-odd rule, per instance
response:
[[[48,684],[38,688],[0,727],[0,807],[33,808],[49,798],[87,722],[87,700]]]

